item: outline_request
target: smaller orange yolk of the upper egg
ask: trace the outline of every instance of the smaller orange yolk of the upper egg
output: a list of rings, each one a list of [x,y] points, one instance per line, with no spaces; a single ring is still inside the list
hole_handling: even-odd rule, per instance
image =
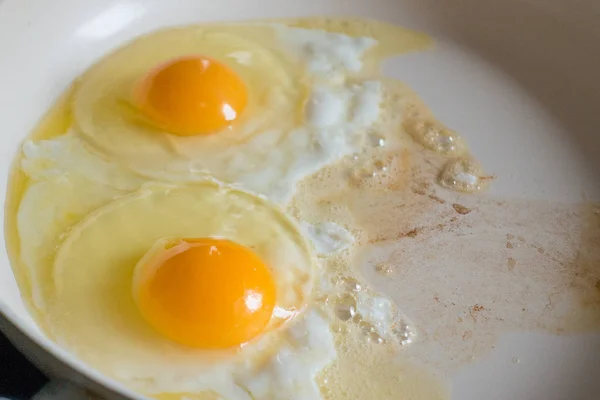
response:
[[[204,56],[171,60],[137,84],[139,109],[170,133],[191,136],[219,131],[248,102],[246,85],[227,65]]]

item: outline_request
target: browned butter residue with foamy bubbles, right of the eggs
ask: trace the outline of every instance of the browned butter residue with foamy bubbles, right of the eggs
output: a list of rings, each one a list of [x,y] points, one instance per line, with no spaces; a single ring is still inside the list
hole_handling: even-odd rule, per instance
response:
[[[361,270],[369,286],[417,327],[407,356],[453,371],[486,354],[503,332],[600,328],[598,205],[448,193],[434,185],[443,160],[428,157],[410,149],[387,177],[360,187],[344,184],[335,168],[321,171],[301,184],[294,202],[299,218],[359,233],[360,264],[340,264],[369,266]],[[477,213],[462,218],[449,204]],[[369,264],[373,247],[385,257]],[[376,271],[380,262],[394,267],[393,277]]]

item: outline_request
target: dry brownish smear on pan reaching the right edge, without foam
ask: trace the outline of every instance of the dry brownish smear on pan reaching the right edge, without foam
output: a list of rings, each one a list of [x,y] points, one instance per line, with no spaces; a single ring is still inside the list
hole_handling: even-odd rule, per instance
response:
[[[411,219],[419,227],[413,240],[383,242],[386,262],[401,266],[397,279],[366,274],[425,332],[408,354],[451,371],[485,354],[503,332],[600,329],[597,206],[466,196],[461,204],[480,210],[478,217],[451,222],[448,207],[436,204]],[[440,346],[442,358],[434,355]]]

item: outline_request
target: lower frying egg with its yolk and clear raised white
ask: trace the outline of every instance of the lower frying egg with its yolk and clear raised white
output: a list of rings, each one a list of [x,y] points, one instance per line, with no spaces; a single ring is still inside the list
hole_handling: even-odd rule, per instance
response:
[[[129,371],[177,382],[184,365],[206,369],[215,358],[236,359],[235,351],[189,347],[248,343],[240,353],[248,361],[253,347],[267,345],[251,339],[262,334],[268,341],[267,332],[304,310],[315,274],[293,221],[260,198],[211,181],[144,186],[111,202],[70,230],[53,264],[56,337],[121,379],[131,378],[123,375]],[[117,355],[124,360],[118,366]],[[152,376],[139,376],[144,364],[161,362]],[[197,368],[184,376],[191,379]]]

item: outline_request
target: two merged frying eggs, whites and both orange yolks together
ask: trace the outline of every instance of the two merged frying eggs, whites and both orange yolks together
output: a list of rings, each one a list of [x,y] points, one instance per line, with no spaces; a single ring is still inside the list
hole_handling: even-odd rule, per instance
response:
[[[467,151],[379,73],[429,40],[340,21],[159,31],[76,82],[73,123],[19,164],[17,268],[49,336],[161,400],[444,397],[406,384],[418,336],[351,268],[360,227],[290,203],[327,166],[326,199],[366,182],[409,138]]]

